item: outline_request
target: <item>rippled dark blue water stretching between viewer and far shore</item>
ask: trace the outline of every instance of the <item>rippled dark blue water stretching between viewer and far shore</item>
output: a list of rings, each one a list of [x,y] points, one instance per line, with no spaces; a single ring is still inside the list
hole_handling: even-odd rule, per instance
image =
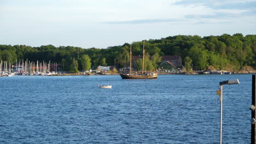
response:
[[[223,143],[250,143],[252,75],[0,77],[0,143],[219,143],[229,79]]]

